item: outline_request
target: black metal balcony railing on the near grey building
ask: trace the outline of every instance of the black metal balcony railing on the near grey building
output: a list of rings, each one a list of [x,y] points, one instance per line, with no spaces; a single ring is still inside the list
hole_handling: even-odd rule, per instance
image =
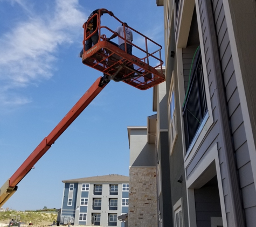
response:
[[[191,145],[192,140],[202,124],[202,120],[207,112],[202,56],[200,49],[198,49],[194,62],[188,94],[186,94],[186,100],[182,109],[186,151],[188,151],[188,148]]]

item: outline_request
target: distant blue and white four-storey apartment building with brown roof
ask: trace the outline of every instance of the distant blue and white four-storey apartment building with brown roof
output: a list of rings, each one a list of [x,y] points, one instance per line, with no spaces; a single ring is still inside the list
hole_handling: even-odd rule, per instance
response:
[[[124,226],[118,217],[128,213],[128,176],[109,174],[62,182],[60,224]]]

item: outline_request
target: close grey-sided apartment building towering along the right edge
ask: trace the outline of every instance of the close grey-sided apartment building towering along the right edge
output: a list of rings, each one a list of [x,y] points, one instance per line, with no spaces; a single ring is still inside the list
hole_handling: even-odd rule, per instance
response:
[[[144,129],[155,152],[155,226],[255,226],[256,2],[156,4],[166,81],[153,89],[156,115]]]

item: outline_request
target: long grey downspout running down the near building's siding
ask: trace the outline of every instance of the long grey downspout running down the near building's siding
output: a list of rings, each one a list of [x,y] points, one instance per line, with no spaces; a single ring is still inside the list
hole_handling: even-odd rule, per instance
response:
[[[240,195],[239,180],[236,167],[236,159],[234,157],[233,143],[231,136],[231,129],[229,125],[229,113],[227,110],[225,88],[222,75],[222,65],[219,59],[218,42],[216,35],[215,20],[212,10],[212,2],[209,0],[203,1],[203,8],[205,9],[206,29],[209,29],[209,44],[211,47],[210,58],[213,61],[213,81],[216,84],[215,95],[216,95],[216,112],[218,117],[219,126],[219,137],[218,137],[218,150],[222,148],[223,159],[226,171],[227,180],[227,191],[230,202],[230,214],[231,222],[230,226],[233,227],[244,227],[245,220],[242,209],[242,200]]]

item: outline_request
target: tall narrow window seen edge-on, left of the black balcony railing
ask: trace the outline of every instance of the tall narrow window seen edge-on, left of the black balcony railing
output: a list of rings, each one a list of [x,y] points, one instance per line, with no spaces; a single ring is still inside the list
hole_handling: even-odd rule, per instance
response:
[[[174,71],[171,76],[171,86],[169,94],[169,137],[170,137],[170,154],[173,151],[173,147],[177,138],[177,120],[176,120],[176,108],[175,108],[175,89],[174,89]]]

